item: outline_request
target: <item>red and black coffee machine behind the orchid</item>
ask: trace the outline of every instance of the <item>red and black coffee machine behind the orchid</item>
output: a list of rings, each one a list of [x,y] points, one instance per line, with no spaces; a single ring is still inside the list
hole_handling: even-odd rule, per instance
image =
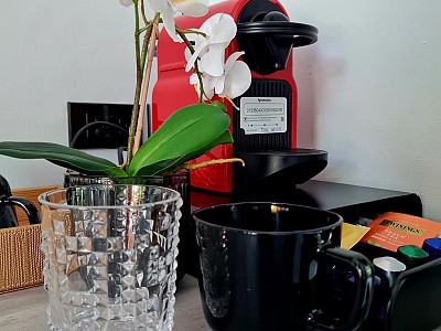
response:
[[[217,192],[251,189],[254,185],[303,183],[322,171],[327,153],[297,146],[298,93],[293,78],[292,49],[318,40],[314,26],[293,23],[278,1],[229,0],[209,8],[204,18],[181,17],[181,29],[200,28],[211,15],[224,12],[237,23],[236,39],[226,50],[244,51],[251,70],[250,88],[228,105],[233,145],[219,146],[195,160],[241,158],[246,166],[215,164],[192,171],[192,186]],[[185,72],[183,43],[162,31],[158,43],[158,82],[153,88],[151,127],[159,126],[175,110],[197,102]]]

